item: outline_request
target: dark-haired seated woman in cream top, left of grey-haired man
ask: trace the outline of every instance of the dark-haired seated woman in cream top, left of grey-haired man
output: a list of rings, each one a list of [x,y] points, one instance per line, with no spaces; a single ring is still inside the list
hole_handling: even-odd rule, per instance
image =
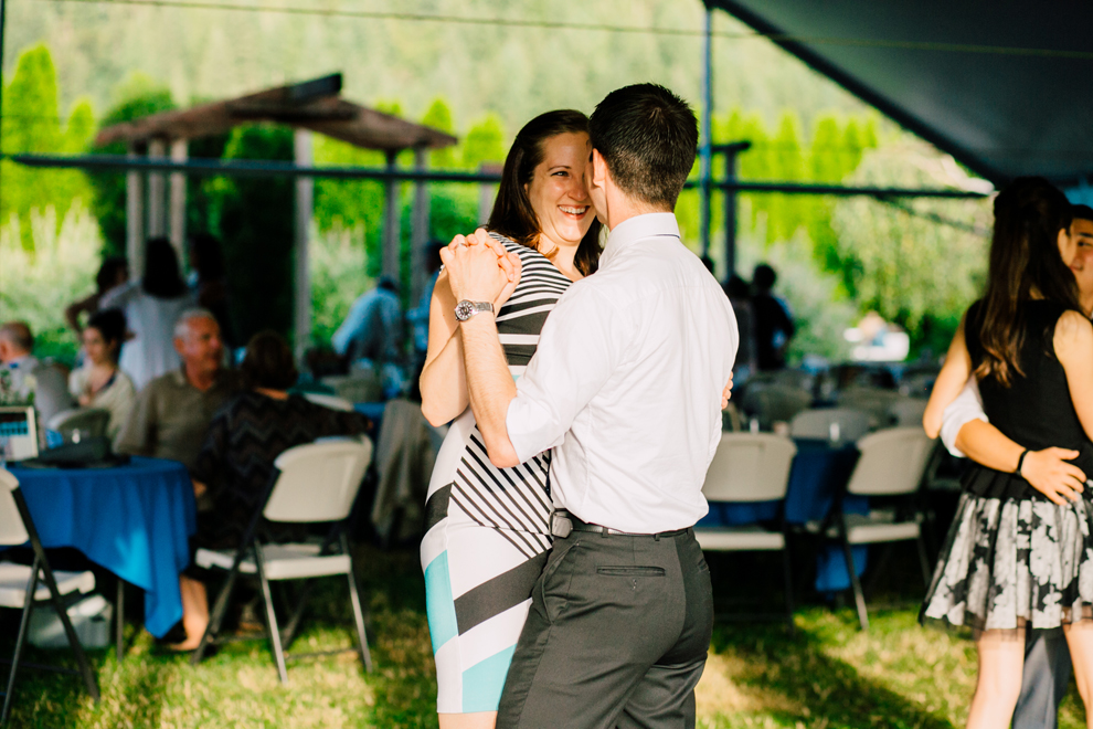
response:
[[[81,408],[102,408],[110,412],[106,434],[113,440],[129,419],[137,398],[132,380],[118,369],[118,353],[125,340],[125,315],[118,309],[92,315],[81,338],[84,366],[68,376],[68,392]]]

